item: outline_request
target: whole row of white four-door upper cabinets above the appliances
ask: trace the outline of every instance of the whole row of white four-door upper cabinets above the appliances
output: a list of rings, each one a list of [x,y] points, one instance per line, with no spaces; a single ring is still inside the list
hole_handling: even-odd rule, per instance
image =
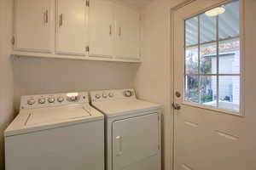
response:
[[[139,62],[140,14],[109,0],[15,0],[14,30],[17,55]]]

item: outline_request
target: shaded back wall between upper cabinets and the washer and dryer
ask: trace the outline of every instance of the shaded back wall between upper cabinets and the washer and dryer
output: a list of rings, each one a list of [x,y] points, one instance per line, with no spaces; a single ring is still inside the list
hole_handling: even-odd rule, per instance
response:
[[[133,88],[139,64],[13,57],[15,107],[20,95]]]

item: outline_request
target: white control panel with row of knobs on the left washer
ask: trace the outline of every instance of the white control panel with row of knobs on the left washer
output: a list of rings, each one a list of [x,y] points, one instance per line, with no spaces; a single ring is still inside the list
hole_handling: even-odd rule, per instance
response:
[[[39,94],[21,97],[20,109],[36,109],[58,105],[89,103],[88,93]]]

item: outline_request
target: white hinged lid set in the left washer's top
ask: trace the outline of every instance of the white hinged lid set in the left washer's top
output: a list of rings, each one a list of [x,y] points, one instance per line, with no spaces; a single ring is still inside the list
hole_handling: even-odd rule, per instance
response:
[[[33,110],[25,123],[25,126],[33,126],[50,122],[59,122],[68,119],[90,116],[84,105],[71,105],[67,107],[51,107]]]

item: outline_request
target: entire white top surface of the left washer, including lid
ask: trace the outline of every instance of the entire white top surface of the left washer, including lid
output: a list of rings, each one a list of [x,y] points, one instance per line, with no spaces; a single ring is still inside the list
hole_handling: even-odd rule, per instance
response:
[[[78,123],[103,121],[104,116],[89,104],[21,110],[4,131],[4,136],[32,133]]]

